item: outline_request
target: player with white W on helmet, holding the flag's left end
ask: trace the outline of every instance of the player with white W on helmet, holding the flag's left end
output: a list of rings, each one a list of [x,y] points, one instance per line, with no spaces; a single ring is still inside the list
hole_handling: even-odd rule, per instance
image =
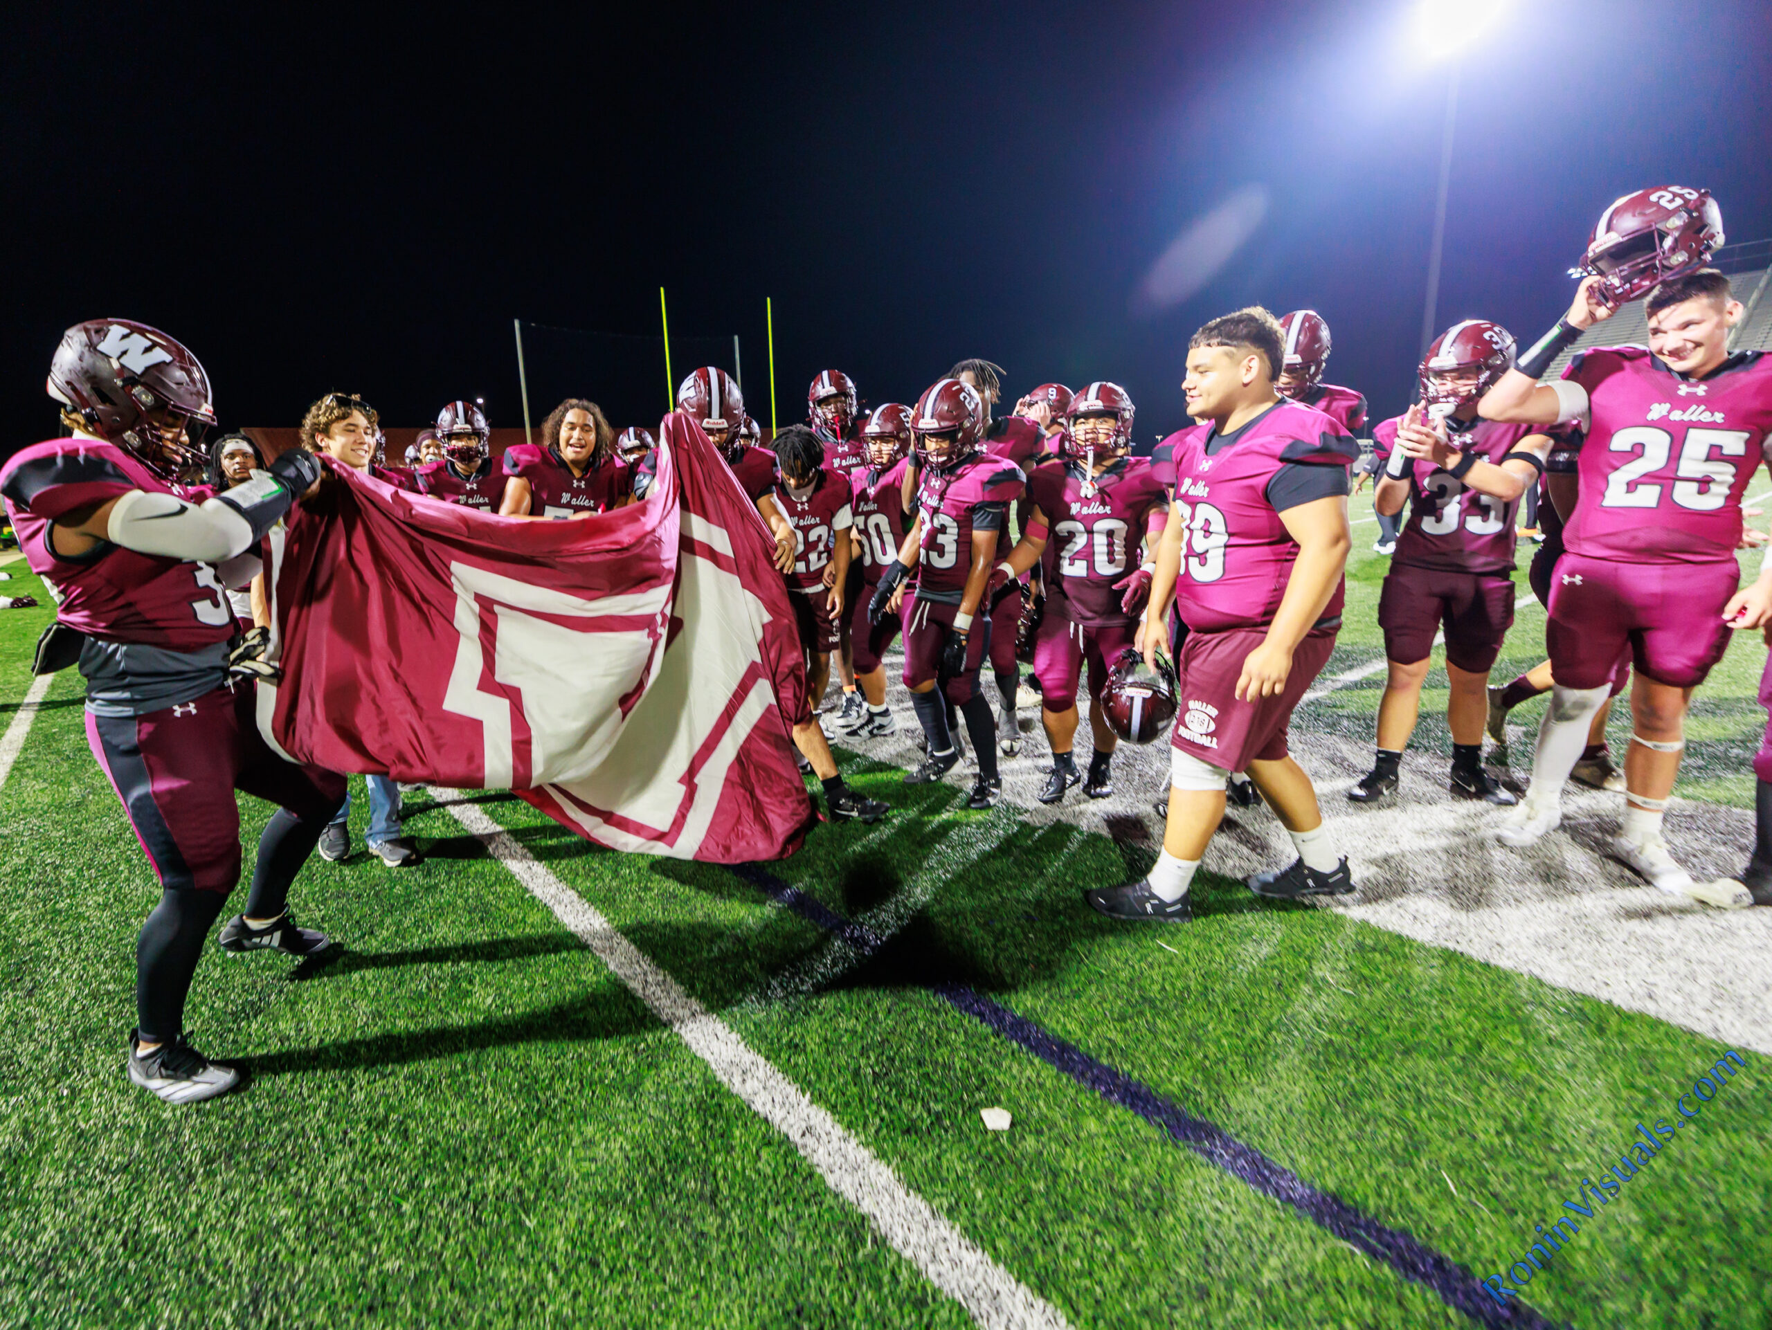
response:
[[[319,485],[323,464],[291,448],[223,494],[186,489],[204,460],[193,436],[214,421],[209,379],[179,342],[126,319],[69,328],[50,395],[71,437],[16,452],[0,494],[32,570],[57,588],[41,668],[80,664],[87,740],[161,882],[136,942],[129,1080],[191,1103],[239,1080],[183,1032],[204,940],[239,878],[236,790],[280,808],[222,947],[315,956],[330,946],[294,923],[287,896],[344,781],[259,737],[252,689],[229,684],[237,629],[223,597],[257,570],[266,531]]]

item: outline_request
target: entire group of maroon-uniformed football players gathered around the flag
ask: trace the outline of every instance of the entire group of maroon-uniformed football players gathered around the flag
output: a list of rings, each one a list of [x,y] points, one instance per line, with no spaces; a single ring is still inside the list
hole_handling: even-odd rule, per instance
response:
[[[1692,687],[1733,630],[1772,620],[1772,567],[1740,586],[1735,556],[1742,492],[1772,430],[1772,360],[1728,352],[1744,312],[1728,278],[1705,267],[1721,243],[1721,213],[1701,189],[1620,198],[1595,227],[1586,276],[1550,333],[1515,358],[1504,329],[1460,321],[1419,365],[1421,402],[1375,429],[1377,510],[1398,515],[1407,503],[1409,519],[1379,607],[1389,678],[1377,762],[1352,799],[1395,793],[1441,634],[1455,793],[1515,802],[1480,762],[1483,728],[1497,731],[1526,696],[1552,694],[1531,786],[1497,829],[1508,845],[1556,829],[1574,770],[1618,785],[1597,715],[1630,678],[1614,854],[1666,891],[1772,903],[1772,730],[1754,760],[1758,832],[1740,882],[1694,882],[1660,832]],[[1559,381],[1540,383],[1582,329],[1643,298],[1648,347],[1589,349]],[[884,657],[902,639],[923,738],[923,760],[904,779],[952,772],[964,721],[976,763],[971,808],[999,799],[998,758],[1022,742],[1022,662],[1033,666],[1051,753],[1045,802],[1079,783],[1084,795],[1109,795],[1115,746],[1150,742],[1173,719],[1162,852],[1143,878],[1086,893],[1095,910],[1189,919],[1189,884],[1228,797],[1260,797],[1297,848],[1292,864],[1249,878],[1255,893],[1354,891],[1286,744],[1292,710],[1341,623],[1347,496],[1361,459],[1364,402],[1322,383],[1327,354],[1327,326],[1310,310],[1212,319],[1187,349],[1193,423],[1150,459],[1132,457],[1134,406],[1108,381],[1077,391],[1040,384],[994,418],[1001,381],[989,361],[960,361],[914,404],[867,413],[854,383],[828,370],[808,393],[808,425],[778,432],[766,450],[725,372],[684,379],[677,409],[707,434],[774,540],[806,655],[794,740],[829,816],[874,822],[888,811],[843,785],[813,717],[831,657],[843,684],[833,733],[865,742],[895,730]],[[0,468],[19,544],[57,597],[34,669],[78,664],[85,675],[94,756],[163,885],[136,946],[129,1079],[168,1102],[206,1100],[237,1071],[188,1041],[183,1015],[241,871],[236,790],[278,813],[222,947],[292,956],[330,947],[294,923],[287,893],[335,824],[344,779],[275,753],[253,721],[252,687],[236,687],[255,673],[262,611],[234,597],[262,577],[259,551],[289,508],[319,501],[319,455],[443,501],[548,521],[643,501],[656,452],[645,430],[617,437],[595,404],[569,398],[542,443],[494,464],[484,414],[457,400],[408,468],[388,466],[376,413],[328,393],[303,420],[301,448],[253,468],[250,441],[223,441],[209,459],[216,483],[202,487],[191,473],[204,460],[197,436],[214,421],[209,383],[174,338],[119,319],[76,324],[48,386],[67,437]],[[1515,512],[1540,483],[1554,530],[1533,586],[1549,609],[1550,659],[1488,689],[1513,616]],[[1086,774],[1072,753],[1084,666]],[[1772,671],[1761,700],[1772,701]],[[383,790],[388,800],[397,808],[397,790]]]

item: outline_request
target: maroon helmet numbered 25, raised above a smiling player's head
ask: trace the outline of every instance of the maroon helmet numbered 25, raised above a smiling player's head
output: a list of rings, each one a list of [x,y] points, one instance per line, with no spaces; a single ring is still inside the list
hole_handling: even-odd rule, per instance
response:
[[[1604,278],[1595,290],[1616,310],[1657,282],[1703,267],[1719,244],[1722,209],[1708,189],[1637,189],[1600,214],[1574,276]]]

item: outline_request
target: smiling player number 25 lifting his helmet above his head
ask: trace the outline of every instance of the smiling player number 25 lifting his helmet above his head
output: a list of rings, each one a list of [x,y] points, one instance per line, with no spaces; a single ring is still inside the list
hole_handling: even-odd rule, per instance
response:
[[[1563,781],[1628,646],[1634,733],[1613,854],[1657,887],[1687,894],[1694,882],[1662,839],[1687,701],[1729,630],[1772,616],[1772,568],[1742,588],[1735,561],[1740,498],[1772,429],[1772,358],[1729,354],[1742,305],[1722,273],[1701,267],[1721,243],[1722,216],[1703,189],[1620,198],[1595,227],[1589,275],[1568,313],[1481,402],[1490,420],[1586,421],[1545,629],[1556,684],[1531,788],[1501,839],[1531,845],[1561,822]],[[1639,296],[1648,298],[1648,347],[1591,347],[1558,383],[1538,383],[1581,331]]]

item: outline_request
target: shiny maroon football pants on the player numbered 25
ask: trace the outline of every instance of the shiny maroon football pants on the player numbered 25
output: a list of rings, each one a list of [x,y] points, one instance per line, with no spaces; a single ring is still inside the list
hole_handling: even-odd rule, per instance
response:
[[[1597,689],[1616,682],[1628,650],[1637,673],[1698,687],[1729,648],[1722,606],[1740,581],[1735,560],[1620,563],[1565,553],[1545,627],[1550,673],[1563,687]]]

